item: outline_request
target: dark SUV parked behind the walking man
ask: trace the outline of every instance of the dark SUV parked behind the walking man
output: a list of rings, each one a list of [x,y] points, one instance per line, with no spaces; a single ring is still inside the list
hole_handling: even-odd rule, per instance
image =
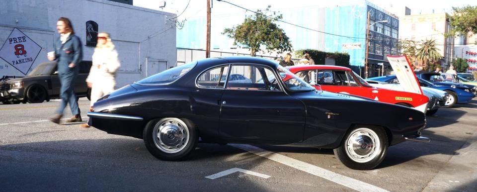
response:
[[[78,97],[89,99],[91,90],[86,86],[86,78],[91,68],[91,61],[79,64],[79,75],[76,79],[75,93]],[[60,79],[56,71],[56,62],[39,64],[26,77],[16,78],[0,83],[0,101],[8,103],[38,103],[60,98]]]

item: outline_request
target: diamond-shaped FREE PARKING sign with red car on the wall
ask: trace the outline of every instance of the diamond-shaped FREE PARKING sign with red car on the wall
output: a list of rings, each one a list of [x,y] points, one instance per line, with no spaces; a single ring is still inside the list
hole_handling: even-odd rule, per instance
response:
[[[25,33],[13,28],[0,48],[0,58],[26,75],[41,51],[41,47]]]

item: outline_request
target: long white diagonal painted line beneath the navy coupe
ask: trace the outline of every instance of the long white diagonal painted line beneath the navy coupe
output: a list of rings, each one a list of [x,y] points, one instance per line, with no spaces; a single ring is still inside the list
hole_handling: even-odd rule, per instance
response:
[[[387,190],[373,186],[371,184],[367,184],[362,181],[355,180],[353,178],[342,176],[332,171],[328,171],[326,169],[314,166],[312,164],[305,163],[305,162],[302,162],[290,157],[286,157],[284,155],[280,155],[277,153],[273,153],[271,151],[267,151],[259,147],[255,147],[252,145],[242,145],[242,144],[228,144],[228,145],[237,147],[241,150],[253,153],[258,156],[262,156],[272,161],[276,161],[278,163],[293,167],[295,169],[307,172],[309,174],[316,175],[323,179],[332,181],[334,183],[343,185],[345,187],[351,188],[359,192],[388,192]]]

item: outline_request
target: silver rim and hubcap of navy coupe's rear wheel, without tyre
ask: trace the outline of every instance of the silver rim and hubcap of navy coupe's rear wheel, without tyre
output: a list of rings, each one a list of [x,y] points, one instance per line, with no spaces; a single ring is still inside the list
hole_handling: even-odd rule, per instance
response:
[[[156,147],[165,153],[177,153],[189,142],[189,127],[178,118],[161,119],[153,129]]]

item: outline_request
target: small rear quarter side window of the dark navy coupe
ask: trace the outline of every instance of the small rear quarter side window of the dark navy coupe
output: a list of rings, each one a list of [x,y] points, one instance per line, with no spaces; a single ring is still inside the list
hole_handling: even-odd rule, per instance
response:
[[[197,86],[203,88],[224,88],[228,73],[229,65],[207,70],[197,79]]]

